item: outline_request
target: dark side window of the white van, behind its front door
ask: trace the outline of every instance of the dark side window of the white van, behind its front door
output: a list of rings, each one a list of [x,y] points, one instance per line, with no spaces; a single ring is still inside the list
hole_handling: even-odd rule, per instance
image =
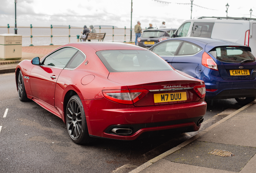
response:
[[[211,38],[214,22],[194,22],[191,36]]]

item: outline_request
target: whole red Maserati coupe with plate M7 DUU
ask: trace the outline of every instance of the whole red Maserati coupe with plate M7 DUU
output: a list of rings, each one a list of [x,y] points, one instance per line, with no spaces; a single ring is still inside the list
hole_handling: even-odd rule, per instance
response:
[[[74,143],[198,131],[205,85],[155,53],[125,43],[78,42],[16,68],[19,99],[60,117]]]

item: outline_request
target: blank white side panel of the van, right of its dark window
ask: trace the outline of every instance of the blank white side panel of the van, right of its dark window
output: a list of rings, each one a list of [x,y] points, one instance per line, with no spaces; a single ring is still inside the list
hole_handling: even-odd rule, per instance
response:
[[[217,23],[215,22],[211,38],[219,38],[236,42],[239,38],[243,38],[245,31],[242,23]]]

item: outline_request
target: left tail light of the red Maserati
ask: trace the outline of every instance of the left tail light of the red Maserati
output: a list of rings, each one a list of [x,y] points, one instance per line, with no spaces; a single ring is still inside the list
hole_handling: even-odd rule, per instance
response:
[[[146,89],[102,90],[105,98],[126,105],[132,105],[144,97],[149,91]]]

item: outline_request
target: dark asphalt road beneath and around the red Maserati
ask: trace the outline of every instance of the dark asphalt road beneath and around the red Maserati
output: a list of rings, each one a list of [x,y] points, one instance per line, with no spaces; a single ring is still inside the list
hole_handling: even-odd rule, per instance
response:
[[[242,107],[234,99],[207,101],[201,128]],[[223,112],[224,111],[224,112]],[[0,74],[0,172],[126,173],[194,133],[145,135],[135,141],[97,139],[76,145],[61,119],[33,101],[21,102],[14,73]]]

